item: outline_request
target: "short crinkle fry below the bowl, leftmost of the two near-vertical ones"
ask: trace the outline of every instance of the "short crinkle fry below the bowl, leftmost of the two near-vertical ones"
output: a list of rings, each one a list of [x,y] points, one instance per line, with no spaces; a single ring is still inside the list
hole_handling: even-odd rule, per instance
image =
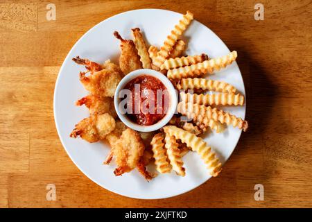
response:
[[[157,133],[150,144],[152,145],[153,157],[155,158],[156,169],[159,173],[169,173],[171,164],[167,161],[166,150],[164,149],[164,135]]]

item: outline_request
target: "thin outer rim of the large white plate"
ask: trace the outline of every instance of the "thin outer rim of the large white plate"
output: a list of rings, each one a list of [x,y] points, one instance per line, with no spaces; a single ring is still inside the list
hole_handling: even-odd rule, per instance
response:
[[[117,16],[119,16],[119,15],[123,15],[123,14],[128,13],[128,12],[135,12],[135,11],[141,11],[141,10],[161,10],[161,11],[171,12],[171,13],[174,13],[174,14],[177,14],[177,15],[181,15],[181,16],[183,15],[183,14],[181,14],[180,12],[175,12],[175,11],[172,11],[172,10],[166,10],[166,9],[161,9],[161,8],[139,8],[139,9],[135,9],[135,10],[127,10],[127,11],[124,11],[124,12],[120,12],[120,13],[118,13],[118,14],[116,14],[116,15],[112,15],[111,17],[107,17],[106,19],[102,20],[102,21],[99,22],[98,24],[92,26],[92,28],[89,28],[89,30],[86,31],[83,35],[81,35],[81,37],[76,41],[76,43],[73,44],[73,46],[71,46],[71,49],[70,49],[69,52],[67,53],[67,56],[64,58],[64,60],[63,60],[63,62],[62,62],[62,65],[61,65],[61,67],[60,67],[60,70],[58,71],[58,77],[57,77],[56,80],[55,80],[55,87],[54,87],[54,92],[53,92],[53,117],[54,117],[54,122],[55,122],[55,128],[56,128],[56,130],[57,130],[58,137],[59,137],[59,139],[60,139],[60,142],[61,142],[61,144],[62,144],[64,150],[66,151],[67,155],[69,156],[69,158],[71,159],[71,161],[73,162],[73,164],[75,164],[76,167],[83,173],[83,175],[85,175],[85,176],[87,176],[87,178],[89,178],[89,180],[92,180],[92,182],[96,183],[96,185],[98,185],[98,186],[100,186],[100,187],[102,187],[102,188],[104,188],[104,189],[106,189],[106,190],[108,190],[108,191],[111,191],[111,192],[114,193],[114,194],[118,194],[119,196],[125,196],[125,197],[128,197],[128,198],[135,198],[135,199],[139,199],[139,200],[140,200],[140,199],[141,199],[141,200],[157,200],[157,199],[171,198],[171,197],[175,197],[175,196],[180,196],[180,195],[182,195],[182,194],[186,194],[186,193],[188,193],[189,191],[192,191],[193,189],[196,189],[196,188],[200,187],[201,185],[203,185],[205,182],[207,182],[208,180],[210,180],[211,177],[207,178],[207,180],[205,180],[204,182],[199,183],[198,185],[196,185],[195,187],[193,187],[193,189],[189,189],[189,190],[187,190],[187,191],[182,191],[182,192],[180,192],[179,194],[164,195],[164,196],[155,197],[155,198],[144,198],[144,197],[137,197],[137,196],[132,196],[132,195],[128,195],[128,194],[120,194],[118,191],[116,191],[116,190],[114,190],[114,189],[108,189],[107,187],[103,187],[96,179],[91,178],[91,177],[88,175],[88,173],[85,173],[85,171],[83,171],[83,170],[80,168],[80,166],[76,163],[76,161],[73,159],[73,157],[72,157],[71,154],[69,153],[69,151],[68,151],[68,149],[66,148],[66,146],[64,146],[64,141],[63,141],[63,139],[62,139],[62,136],[60,135],[60,130],[59,130],[60,126],[58,125],[58,121],[57,121],[58,118],[57,118],[56,110],[55,110],[56,91],[57,91],[57,89],[58,89],[58,84],[59,84],[59,81],[60,81],[60,74],[61,74],[61,72],[62,72],[62,69],[64,69],[64,62],[69,58],[69,55],[71,54],[71,51],[73,51],[73,49],[76,47],[76,45],[83,39],[83,37],[85,37],[85,35],[87,35],[89,32],[92,32],[92,30],[93,30],[94,28],[96,28],[97,26],[100,26],[103,22],[107,22],[108,20],[113,19],[114,17],[117,17]],[[194,20],[196,20],[196,19],[194,19]],[[196,22],[198,22],[198,21],[196,20]],[[201,22],[198,22],[198,23],[202,24]],[[218,40],[220,40],[220,41],[225,45],[225,47],[227,48],[227,50],[230,51],[229,48],[227,47],[227,44],[225,44],[225,42],[223,42],[223,40],[222,40],[220,37],[218,37],[218,35],[216,35],[216,33],[214,33],[214,31],[212,31],[210,28],[208,28],[205,24],[202,24],[202,26],[205,27],[205,29],[207,29],[207,31],[210,31],[211,33],[213,33],[213,35],[214,35],[216,38],[218,38]],[[237,68],[239,69],[239,73],[241,74],[241,69],[239,68],[239,65],[237,64],[237,62],[234,61],[233,63],[236,63]],[[242,74],[241,74],[241,78],[242,78],[242,80],[243,80],[243,75],[242,75]],[[243,90],[244,90],[244,92],[245,92],[245,95],[244,95],[244,96],[245,96],[245,105],[244,105],[244,106],[245,106],[245,111],[244,111],[244,114],[243,114],[242,118],[245,119],[246,110],[247,110],[247,99],[246,99],[247,96],[246,96],[246,91],[245,91],[245,83],[244,83],[244,80],[243,80],[243,85],[242,85],[242,87],[243,87]],[[233,148],[233,150],[230,152],[229,157],[232,156],[234,150],[236,149],[236,146],[237,146],[237,144],[239,143],[239,140],[241,139],[241,133],[242,133],[242,132],[243,132],[243,130],[240,130],[239,139],[237,139],[236,144],[234,144],[234,148]],[[227,158],[227,160],[229,160],[229,157]],[[225,162],[223,163],[223,166],[225,166],[227,160],[225,160]]]

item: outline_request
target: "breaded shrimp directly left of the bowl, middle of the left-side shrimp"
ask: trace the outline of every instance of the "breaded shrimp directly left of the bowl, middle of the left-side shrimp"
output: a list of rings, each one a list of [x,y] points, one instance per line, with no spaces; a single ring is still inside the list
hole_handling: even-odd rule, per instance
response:
[[[101,97],[88,95],[76,101],[76,105],[85,105],[91,115],[108,113],[116,118],[116,110],[114,109],[114,100],[111,97]]]

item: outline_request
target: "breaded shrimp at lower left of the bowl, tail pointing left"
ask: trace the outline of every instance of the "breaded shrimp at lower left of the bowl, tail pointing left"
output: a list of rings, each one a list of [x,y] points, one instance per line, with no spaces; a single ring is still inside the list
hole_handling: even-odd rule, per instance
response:
[[[70,137],[81,137],[87,142],[98,142],[114,130],[116,124],[114,118],[108,114],[91,116],[76,124]]]

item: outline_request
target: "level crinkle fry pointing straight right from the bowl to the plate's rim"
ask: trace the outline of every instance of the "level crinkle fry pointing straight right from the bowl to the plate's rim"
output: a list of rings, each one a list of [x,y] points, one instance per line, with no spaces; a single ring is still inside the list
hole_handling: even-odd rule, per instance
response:
[[[199,105],[244,105],[245,97],[242,94],[190,94],[181,92],[180,99],[185,103]]]

